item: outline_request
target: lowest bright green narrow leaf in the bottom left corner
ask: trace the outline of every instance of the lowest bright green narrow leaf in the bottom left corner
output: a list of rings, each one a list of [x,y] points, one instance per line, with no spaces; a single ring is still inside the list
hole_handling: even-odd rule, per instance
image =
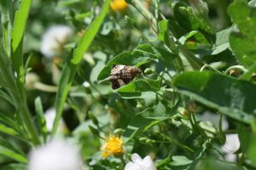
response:
[[[15,161],[26,163],[26,156],[9,143],[9,141],[0,138],[0,155],[7,156]]]

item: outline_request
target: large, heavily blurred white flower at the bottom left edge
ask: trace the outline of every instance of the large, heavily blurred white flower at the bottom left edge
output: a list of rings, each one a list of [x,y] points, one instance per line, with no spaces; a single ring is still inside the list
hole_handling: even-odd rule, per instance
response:
[[[28,170],[82,170],[79,151],[65,141],[51,141],[32,150]]]

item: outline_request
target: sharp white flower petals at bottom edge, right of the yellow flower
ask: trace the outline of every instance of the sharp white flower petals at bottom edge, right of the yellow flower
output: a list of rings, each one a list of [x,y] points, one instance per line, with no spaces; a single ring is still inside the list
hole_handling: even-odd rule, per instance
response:
[[[125,170],[156,170],[156,167],[150,156],[142,159],[141,156],[135,153],[131,155],[131,161],[126,164]]]

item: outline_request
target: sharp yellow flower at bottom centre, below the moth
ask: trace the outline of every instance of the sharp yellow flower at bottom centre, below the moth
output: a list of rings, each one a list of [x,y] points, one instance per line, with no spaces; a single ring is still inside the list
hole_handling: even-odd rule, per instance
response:
[[[109,138],[106,139],[106,143],[102,145],[102,157],[108,156],[118,156],[124,153],[123,150],[123,139],[122,137],[117,138],[112,134],[109,135]]]

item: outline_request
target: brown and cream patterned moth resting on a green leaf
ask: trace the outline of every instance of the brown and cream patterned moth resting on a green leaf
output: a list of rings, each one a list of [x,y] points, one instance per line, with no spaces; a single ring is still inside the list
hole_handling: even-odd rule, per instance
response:
[[[112,88],[120,88],[125,84],[131,82],[142,71],[129,65],[113,65],[109,80]]]

